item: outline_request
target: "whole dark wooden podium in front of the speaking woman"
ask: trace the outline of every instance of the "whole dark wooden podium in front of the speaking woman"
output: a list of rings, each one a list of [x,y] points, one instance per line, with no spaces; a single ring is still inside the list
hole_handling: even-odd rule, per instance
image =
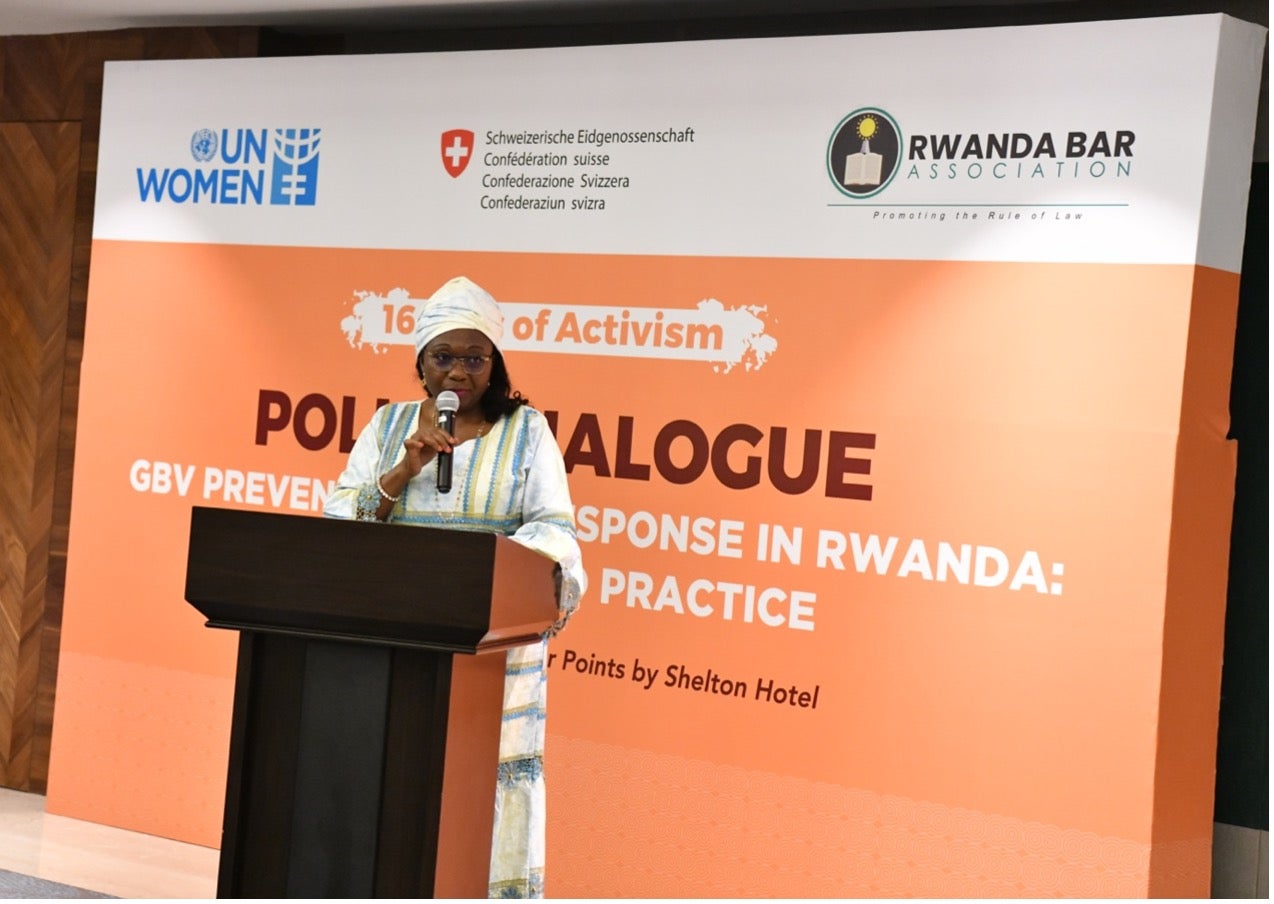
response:
[[[195,507],[186,600],[240,632],[217,896],[485,898],[498,651],[557,618],[553,570],[493,533]]]

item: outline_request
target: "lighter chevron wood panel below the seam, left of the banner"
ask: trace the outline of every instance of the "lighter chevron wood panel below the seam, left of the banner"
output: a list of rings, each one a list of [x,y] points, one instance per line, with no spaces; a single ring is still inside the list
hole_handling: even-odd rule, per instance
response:
[[[0,124],[0,782],[33,789],[78,122]],[[47,754],[46,754],[47,763]],[[47,772],[47,765],[46,765]]]

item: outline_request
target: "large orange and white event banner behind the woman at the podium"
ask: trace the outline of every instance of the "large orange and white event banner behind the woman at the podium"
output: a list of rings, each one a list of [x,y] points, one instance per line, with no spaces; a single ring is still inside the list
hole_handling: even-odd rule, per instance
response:
[[[191,505],[317,516],[464,274],[590,581],[550,895],[1206,896],[1264,38],[108,64],[50,811],[219,843]]]

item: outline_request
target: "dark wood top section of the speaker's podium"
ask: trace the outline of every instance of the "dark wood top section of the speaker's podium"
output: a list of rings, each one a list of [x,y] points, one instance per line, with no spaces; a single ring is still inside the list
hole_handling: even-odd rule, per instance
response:
[[[478,653],[553,624],[554,568],[496,533],[196,505],[186,600],[213,628]]]

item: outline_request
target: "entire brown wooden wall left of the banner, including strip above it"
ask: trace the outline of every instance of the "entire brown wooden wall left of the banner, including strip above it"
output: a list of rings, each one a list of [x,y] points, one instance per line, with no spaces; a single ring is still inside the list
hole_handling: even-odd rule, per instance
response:
[[[0,37],[0,786],[48,780],[103,64],[257,45],[255,28]]]

